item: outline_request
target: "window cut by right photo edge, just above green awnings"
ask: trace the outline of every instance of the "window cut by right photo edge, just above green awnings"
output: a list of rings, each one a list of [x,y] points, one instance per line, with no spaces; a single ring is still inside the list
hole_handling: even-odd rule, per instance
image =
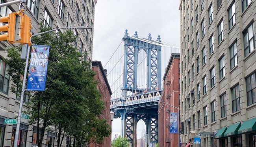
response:
[[[246,78],[247,105],[256,102],[256,72]]]

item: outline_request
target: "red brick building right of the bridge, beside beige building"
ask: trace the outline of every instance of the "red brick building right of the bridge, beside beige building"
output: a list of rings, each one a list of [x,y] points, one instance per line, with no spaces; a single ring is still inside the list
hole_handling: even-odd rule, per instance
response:
[[[158,105],[158,143],[159,147],[178,147],[178,134],[169,133],[170,112],[178,110],[165,104],[179,107],[179,63],[180,54],[171,54],[163,77],[163,94]],[[165,103],[161,103],[165,102]],[[179,125],[178,125],[179,126]],[[179,127],[178,127],[179,128]]]

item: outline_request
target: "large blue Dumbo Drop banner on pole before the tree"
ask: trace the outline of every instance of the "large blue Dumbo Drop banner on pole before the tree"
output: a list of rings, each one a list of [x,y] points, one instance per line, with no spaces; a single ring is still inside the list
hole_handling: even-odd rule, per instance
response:
[[[45,90],[49,48],[47,45],[32,45],[27,90]]]

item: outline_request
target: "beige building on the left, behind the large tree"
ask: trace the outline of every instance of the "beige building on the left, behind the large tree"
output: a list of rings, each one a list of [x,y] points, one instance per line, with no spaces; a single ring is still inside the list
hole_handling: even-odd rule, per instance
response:
[[[1,3],[4,2],[6,1],[1,0]],[[46,26],[50,26],[52,29],[60,27],[78,27],[81,25],[94,29],[96,0],[26,0],[26,3],[27,7],[25,7],[25,9],[27,8],[27,11],[24,13],[31,18],[34,13],[33,34],[38,33],[39,24],[41,22]],[[19,11],[19,5],[1,7],[0,10],[1,17],[7,16],[11,12]],[[0,25],[2,25],[2,23]],[[93,29],[72,29],[74,34],[78,35],[74,45],[77,46],[80,53],[88,53],[86,60],[89,61],[92,60]],[[63,32],[65,30],[59,31]],[[6,70],[9,66],[2,61],[2,58],[6,58],[4,51],[8,46],[12,45],[8,44],[6,41],[0,42],[0,147],[13,147],[16,125],[5,124],[4,119],[15,118],[19,110],[19,98],[9,90],[12,84],[9,76],[6,74]],[[28,98],[24,98],[23,111],[29,109],[26,106],[26,102],[28,102]],[[48,129],[54,131],[54,128],[48,127]],[[45,131],[43,146],[54,147],[57,145],[55,132],[49,130]],[[32,144],[36,143],[36,131],[35,126],[28,125],[28,120],[21,118],[19,147],[32,147]],[[74,141],[72,139],[69,141],[71,141],[73,145]],[[66,142],[67,140],[65,139],[62,144],[63,147],[67,146]]]

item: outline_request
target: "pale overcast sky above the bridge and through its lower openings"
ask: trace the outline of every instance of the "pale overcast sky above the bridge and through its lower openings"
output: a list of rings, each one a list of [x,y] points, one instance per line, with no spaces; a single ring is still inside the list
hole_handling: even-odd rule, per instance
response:
[[[97,0],[95,6],[93,60],[104,66],[122,41],[125,29],[134,36],[160,38],[180,44],[180,0]],[[137,138],[143,121],[137,124]],[[121,120],[112,122],[112,139],[121,132]]]

